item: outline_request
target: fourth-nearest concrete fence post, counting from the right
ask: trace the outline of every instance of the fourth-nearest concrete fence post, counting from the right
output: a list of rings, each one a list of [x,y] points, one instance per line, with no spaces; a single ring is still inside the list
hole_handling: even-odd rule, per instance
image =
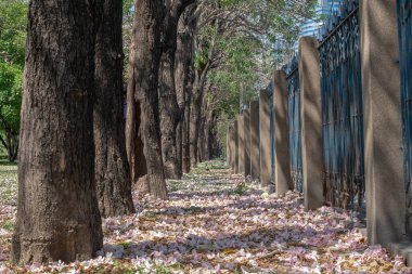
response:
[[[260,131],[260,183],[267,187],[271,182],[271,147],[270,147],[270,107],[267,91],[260,91],[259,104]]]

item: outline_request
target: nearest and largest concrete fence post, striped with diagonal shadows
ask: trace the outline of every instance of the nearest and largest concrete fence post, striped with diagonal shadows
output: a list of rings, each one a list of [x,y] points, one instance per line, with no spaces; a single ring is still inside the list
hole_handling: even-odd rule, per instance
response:
[[[384,247],[404,233],[397,6],[360,3],[368,242]]]

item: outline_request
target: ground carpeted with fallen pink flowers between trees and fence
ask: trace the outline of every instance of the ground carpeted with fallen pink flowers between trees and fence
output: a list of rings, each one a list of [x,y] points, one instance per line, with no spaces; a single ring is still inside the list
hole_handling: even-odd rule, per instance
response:
[[[7,262],[15,181],[0,177],[0,273],[412,273],[366,246],[356,213],[305,212],[297,194],[278,198],[221,161],[169,182],[169,200],[136,195],[136,214],[104,220],[99,258],[18,268]]]

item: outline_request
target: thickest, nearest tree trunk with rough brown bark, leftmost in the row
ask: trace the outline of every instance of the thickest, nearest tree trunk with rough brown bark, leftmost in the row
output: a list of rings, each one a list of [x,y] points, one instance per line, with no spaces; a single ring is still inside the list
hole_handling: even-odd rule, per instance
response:
[[[31,0],[12,260],[92,258],[102,247],[94,185],[94,17],[86,0]]]

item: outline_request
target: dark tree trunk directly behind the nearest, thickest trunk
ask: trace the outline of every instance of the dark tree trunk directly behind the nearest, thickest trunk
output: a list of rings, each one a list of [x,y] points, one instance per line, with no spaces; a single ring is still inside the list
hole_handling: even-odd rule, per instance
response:
[[[134,212],[125,143],[123,104],[123,2],[103,1],[95,38],[95,183],[103,217]]]

